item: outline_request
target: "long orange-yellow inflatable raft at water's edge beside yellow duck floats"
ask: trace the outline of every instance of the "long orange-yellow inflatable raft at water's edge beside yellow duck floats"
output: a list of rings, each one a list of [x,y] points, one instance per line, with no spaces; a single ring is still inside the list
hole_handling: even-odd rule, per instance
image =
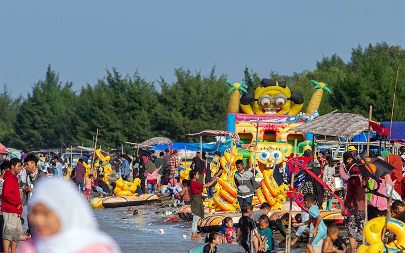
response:
[[[159,201],[159,197],[156,194],[142,194],[139,196],[93,198],[90,204],[93,208],[97,209],[142,205]]]

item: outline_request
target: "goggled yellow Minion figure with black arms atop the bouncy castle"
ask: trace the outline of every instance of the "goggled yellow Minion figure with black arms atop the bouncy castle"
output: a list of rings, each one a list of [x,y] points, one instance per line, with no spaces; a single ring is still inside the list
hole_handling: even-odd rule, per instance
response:
[[[240,98],[240,109],[246,114],[295,115],[303,105],[301,93],[290,91],[285,81],[267,78],[262,79],[254,93],[243,94]]]

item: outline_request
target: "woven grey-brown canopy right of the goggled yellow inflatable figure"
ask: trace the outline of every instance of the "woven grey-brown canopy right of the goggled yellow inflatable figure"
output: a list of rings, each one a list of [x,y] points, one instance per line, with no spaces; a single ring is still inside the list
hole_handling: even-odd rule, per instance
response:
[[[299,125],[290,131],[352,138],[368,129],[369,120],[359,114],[331,113]]]

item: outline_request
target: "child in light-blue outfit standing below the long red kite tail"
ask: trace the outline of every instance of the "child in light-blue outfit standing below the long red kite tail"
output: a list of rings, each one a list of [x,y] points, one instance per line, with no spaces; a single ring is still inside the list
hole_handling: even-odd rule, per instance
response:
[[[311,230],[313,238],[309,240],[307,249],[309,253],[320,253],[323,240],[325,240],[327,236],[327,227],[325,223],[323,223],[322,217],[320,216],[319,208],[316,204],[314,195],[311,193],[306,194],[304,196],[304,202],[305,206],[309,208],[308,212],[310,217],[310,220],[305,222],[305,224],[310,224],[312,220],[312,224],[314,226],[314,228]]]

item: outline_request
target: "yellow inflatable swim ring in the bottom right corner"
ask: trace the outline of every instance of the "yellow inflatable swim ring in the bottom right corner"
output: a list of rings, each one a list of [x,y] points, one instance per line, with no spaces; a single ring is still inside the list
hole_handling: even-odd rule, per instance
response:
[[[381,240],[381,234],[385,226],[385,217],[377,217],[370,220],[364,227],[364,234],[368,245],[362,244],[357,252],[359,253],[379,253],[386,252],[385,247],[388,249],[388,253],[398,252],[398,247],[405,247],[405,223],[388,218],[387,230],[392,231],[397,238],[396,243],[389,243],[384,245]],[[395,246],[396,244],[396,246]]]

